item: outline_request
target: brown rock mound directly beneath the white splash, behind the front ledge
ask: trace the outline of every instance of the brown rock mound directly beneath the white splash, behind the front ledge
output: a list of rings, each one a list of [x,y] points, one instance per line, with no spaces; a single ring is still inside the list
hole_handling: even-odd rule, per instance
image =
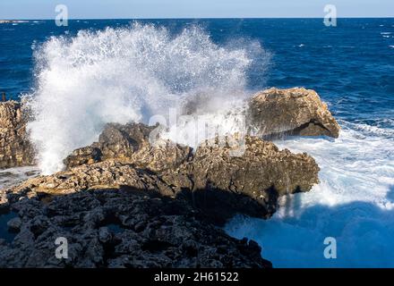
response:
[[[109,123],[100,134],[99,142],[73,151],[72,155],[65,158],[64,164],[72,168],[80,164],[116,159],[155,172],[175,169],[189,158],[192,149],[168,141],[151,146],[150,131],[156,127],[142,123]]]

